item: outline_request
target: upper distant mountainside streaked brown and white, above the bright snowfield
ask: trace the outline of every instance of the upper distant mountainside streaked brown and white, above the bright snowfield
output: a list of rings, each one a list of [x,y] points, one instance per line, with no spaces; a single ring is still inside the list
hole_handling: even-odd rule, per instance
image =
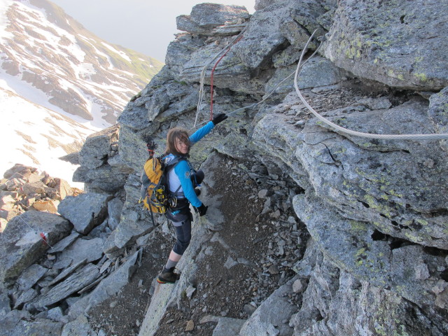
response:
[[[1,77],[29,83],[44,92],[52,106],[92,120],[95,127],[115,123],[129,98],[162,66],[102,41],[49,1],[6,4]]]

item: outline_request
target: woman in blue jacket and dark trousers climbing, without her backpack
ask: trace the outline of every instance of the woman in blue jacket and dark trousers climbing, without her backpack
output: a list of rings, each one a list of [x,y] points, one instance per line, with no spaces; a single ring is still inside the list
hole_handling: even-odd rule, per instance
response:
[[[158,283],[174,283],[179,279],[179,274],[174,273],[174,267],[181,260],[188,244],[190,244],[191,221],[193,221],[190,203],[199,216],[204,216],[208,208],[197,198],[200,195],[200,189],[197,186],[204,179],[204,172],[202,170],[195,172],[190,162],[188,162],[190,148],[209,134],[218,123],[227,118],[228,116],[225,113],[218,114],[218,116],[214,117],[213,120],[209,121],[190,137],[186,130],[179,127],[168,131],[167,149],[163,160],[165,160],[166,164],[169,164],[171,160],[181,159],[174,168],[167,172],[169,193],[176,202],[169,207],[166,216],[172,221],[176,230],[176,244],[174,244],[171,253],[169,253],[165,268],[157,278]]]

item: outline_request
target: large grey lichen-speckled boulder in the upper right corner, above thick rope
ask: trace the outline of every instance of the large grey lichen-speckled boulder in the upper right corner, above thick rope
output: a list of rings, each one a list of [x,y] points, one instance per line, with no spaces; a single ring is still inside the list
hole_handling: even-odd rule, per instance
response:
[[[445,5],[437,0],[344,1],[325,56],[356,76],[392,87],[440,90],[448,83]]]

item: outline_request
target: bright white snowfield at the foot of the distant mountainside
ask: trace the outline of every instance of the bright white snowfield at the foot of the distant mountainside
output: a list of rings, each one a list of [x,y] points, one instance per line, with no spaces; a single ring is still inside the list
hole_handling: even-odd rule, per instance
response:
[[[67,154],[64,146],[83,142],[97,132],[80,125],[54,111],[33,104],[10,90],[5,90],[4,81],[0,88],[0,106],[3,118],[0,132],[2,160],[0,174],[16,163],[36,167],[50,176],[59,177],[76,188],[84,183],[73,182],[77,165],[59,160]],[[37,132],[36,132],[37,130]]]

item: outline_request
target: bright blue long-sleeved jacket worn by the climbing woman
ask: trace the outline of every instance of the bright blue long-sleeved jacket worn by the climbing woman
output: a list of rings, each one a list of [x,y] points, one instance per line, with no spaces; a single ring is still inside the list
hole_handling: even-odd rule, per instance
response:
[[[214,123],[209,121],[206,125],[201,127],[195,133],[191,134],[189,139],[191,146],[193,146],[197,141],[200,141],[203,137],[211,132],[215,127]],[[165,157],[169,162],[175,158],[174,154],[169,154]],[[195,189],[193,188],[193,183],[191,182],[190,176],[194,173],[193,167],[191,167],[190,162],[188,160],[181,160],[174,169],[171,169],[168,172],[168,183],[169,190],[174,193],[183,192],[183,195],[187,198],[187,200],[193,205],[193,207],[200,207],[202,202],[199,198],[197,198]],[[178,190],[179,186],[181,188]]]

